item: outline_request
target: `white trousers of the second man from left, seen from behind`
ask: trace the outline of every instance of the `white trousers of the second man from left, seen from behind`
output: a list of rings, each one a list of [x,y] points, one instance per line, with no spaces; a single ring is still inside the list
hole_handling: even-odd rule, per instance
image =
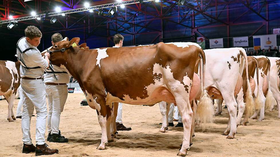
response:
[[[47,85],[47,98],[49,103],[48,132],[58,134],[60,114],[63,111],[67,96],[67,85]]]

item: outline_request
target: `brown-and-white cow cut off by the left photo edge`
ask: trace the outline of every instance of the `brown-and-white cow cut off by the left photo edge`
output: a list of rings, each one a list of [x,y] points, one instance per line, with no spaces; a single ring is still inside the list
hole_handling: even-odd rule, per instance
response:
[[[19,62],[0,61],[0,95],[3,95],[8,102],[7,120],[15,120],[13,112],[13,102],[20,85]]]

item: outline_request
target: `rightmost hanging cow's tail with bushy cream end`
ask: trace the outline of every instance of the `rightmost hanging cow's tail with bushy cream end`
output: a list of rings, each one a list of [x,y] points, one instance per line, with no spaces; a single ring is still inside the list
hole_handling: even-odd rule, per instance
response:
[[[267,94],[265,96],[266,100],[265,100],[265,110],[269,110],[270,108],[272,108],[276,102],[272,92],[271,92],[271,87],[270,87],[270,61],[267,57],[265,57],[267,59],[267,63],[268,63],[268,71],[267,71],[267,87],[268,87],[268,91]]]

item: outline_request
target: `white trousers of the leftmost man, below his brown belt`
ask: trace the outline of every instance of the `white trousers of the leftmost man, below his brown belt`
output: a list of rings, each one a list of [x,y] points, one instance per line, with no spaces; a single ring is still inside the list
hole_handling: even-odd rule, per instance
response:
[[[36,144],[45,144],[46,131],[46,88],[42,80],[21,79],[23,110],[21,130],[23,143],[32,144],[30,136],[30,120],[34,107],[36,109]]]

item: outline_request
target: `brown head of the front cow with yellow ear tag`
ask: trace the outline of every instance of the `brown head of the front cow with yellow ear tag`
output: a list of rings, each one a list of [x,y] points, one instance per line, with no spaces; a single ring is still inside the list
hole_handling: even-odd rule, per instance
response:
[[[50,61],[52,62],[53,65],[66,65],[66,54],[69,53],[70,51],[74,51],[72,48],[72,44],[76,43],[78,44],[80,41],[80,38],[76,37],[71,39],[70,41],[65,40],[65,41],[59,41],[55,43],[52,48],[49,50],[50,52]]]

